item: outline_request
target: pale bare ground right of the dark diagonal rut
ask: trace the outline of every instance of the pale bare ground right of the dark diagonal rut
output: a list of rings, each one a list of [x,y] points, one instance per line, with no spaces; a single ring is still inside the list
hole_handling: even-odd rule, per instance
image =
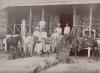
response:
[[[80,57],[75,63],[60,63],[41,73],[100,73],[100,61]]]

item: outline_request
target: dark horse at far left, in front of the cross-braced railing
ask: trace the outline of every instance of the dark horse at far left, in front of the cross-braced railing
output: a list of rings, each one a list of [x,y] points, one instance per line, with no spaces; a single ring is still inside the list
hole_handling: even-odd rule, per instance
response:
[[[18,42],[22,41],[21,36],[11,36],[6,40],[7,43],[7,52],[12,55],[13,59],[19,57],[21,48],[18,48]]]

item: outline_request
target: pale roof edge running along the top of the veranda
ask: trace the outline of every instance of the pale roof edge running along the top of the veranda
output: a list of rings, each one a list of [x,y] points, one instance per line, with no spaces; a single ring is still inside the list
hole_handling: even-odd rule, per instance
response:
[[[45,6],[70,4],[95,4],[100,0],[0,0],[0,9],[8,6]]]

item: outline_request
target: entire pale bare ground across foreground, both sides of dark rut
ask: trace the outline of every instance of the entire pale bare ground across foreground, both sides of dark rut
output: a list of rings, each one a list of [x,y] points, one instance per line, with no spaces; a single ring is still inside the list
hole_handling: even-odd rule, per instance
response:
[[[100,61],[88,58],[75,59],[75,63],[60,63],[44,69],[48,64],[54,64],[57,60],[53,57],[29,57],[17,60],[0,60],[0,73],[36,73],[34,70],[41,66],[40,73],[100,73]]]

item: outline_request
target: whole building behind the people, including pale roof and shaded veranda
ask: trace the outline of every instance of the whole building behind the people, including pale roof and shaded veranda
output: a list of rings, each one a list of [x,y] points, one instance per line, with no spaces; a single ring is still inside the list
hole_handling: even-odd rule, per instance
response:
[[[0,32],[20,34],[21,21],[26,20],[26,33],[32,35],[40,20],[46,21],[48,36],[53,33],[57,23],[62,29],[65,23],[82,26],[82,33],[100,37],[100,1],[99,0],[1,0]],[[2,29],[4,29],[2,31]],[[5,31],[6,30],[6,31]],[[84,32],[87,31],[87,32]],[[88,32],[89,31],[89,32]]]

